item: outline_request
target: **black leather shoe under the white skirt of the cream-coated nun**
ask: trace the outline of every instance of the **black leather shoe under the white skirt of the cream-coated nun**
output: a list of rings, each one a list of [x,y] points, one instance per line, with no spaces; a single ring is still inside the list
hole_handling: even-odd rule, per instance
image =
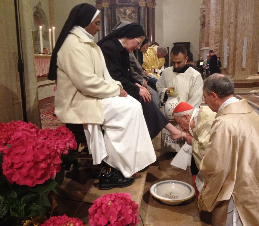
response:
[[[112,169],[111,172],[101,175],[99,180],[99,189],[108,190],[114,187],[127,187],[134,182],[135,178],[125,178],[119,170]]]

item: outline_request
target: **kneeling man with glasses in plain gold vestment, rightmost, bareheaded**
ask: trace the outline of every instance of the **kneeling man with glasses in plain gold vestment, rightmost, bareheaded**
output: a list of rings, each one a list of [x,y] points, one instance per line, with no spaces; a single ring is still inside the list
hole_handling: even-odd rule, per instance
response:
[[[198,205],[212,212],[212,226],[259,225],[259,116],[234,92],[227,75],[204,80],[205,104],[217,114],[200,163],[205,184]]]

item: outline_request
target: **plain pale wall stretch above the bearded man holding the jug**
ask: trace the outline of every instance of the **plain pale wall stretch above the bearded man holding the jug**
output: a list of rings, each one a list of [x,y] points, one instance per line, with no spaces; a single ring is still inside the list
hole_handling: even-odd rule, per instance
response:
[[[155,40],[169,46],[191,42],[193,61],[199,59],[200,0],[156,0]]]

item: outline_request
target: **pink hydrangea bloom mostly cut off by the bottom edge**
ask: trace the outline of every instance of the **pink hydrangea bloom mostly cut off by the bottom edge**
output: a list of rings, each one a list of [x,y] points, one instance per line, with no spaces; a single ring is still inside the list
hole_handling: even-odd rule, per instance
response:
[[[68,217],[66,214],[63,216],[50,217],[45,220],[40,226],[84,226],[83,222],[75,217]]]

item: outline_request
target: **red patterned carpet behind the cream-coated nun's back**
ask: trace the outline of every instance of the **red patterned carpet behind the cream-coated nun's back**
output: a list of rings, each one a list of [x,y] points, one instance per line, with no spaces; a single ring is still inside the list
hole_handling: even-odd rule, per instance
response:
[[[54,96],[47,97],[39,101],[42,129],[54,129],[64,125],[64,123],[60,122],[60,120],[57,117],[53,116],[54,109]]]

